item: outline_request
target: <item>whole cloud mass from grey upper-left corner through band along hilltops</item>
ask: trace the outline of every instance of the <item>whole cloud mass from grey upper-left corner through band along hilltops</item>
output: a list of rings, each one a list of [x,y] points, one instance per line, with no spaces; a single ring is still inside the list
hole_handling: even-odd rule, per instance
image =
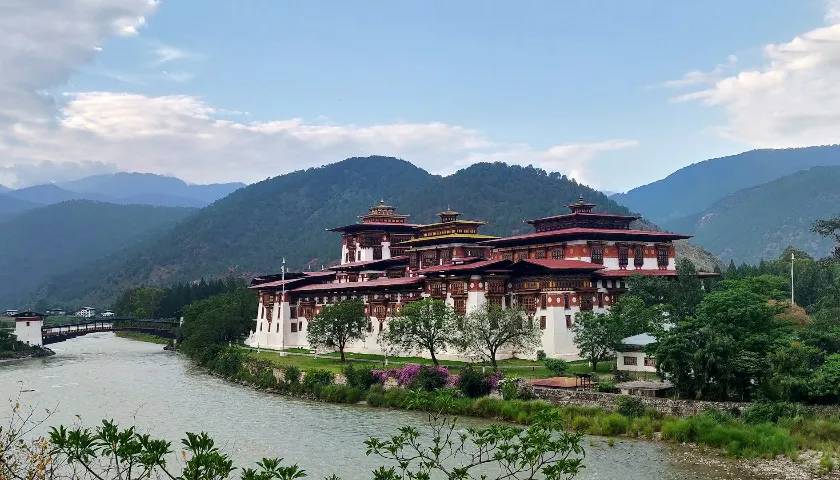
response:
[[[618,139],[537,148],[443,122],[249,121],[247,114],[191,95],[100,91],[54,99],[42,92],[64,84],[109,36],[136,35],[156,3],[56,0],[50,8],[29,0],[9,3],[0,6],[0,183],[11,186],[114,169],[173,174],[194,182],[254,181],[370,154],[403,157],[435,173],[503,160],[591,181],[599,155],[636,145]],[[149,45],[149,67],[163,70],[160,75],[169,81],[191,78],[173,65],[194,54]],[[131,86],[153,81],[143,72],[105,74]]]

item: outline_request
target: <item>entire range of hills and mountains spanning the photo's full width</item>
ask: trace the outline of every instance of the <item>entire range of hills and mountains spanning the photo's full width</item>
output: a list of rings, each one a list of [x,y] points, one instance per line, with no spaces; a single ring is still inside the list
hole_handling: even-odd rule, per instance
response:
[[[141,184],[148,180],[163,185],[158,176],[90,177],[0,193],[0,198],[8,200],[0,201],[0,218],[8,205],[28,209],[0,223],[3,231],[19,229],[16,236],[7,236],[9,240],[0,237],[0,258],[31,257],[36,259],[35,265],[40,265],[31,275],[26,273],[27,280],[20,285],[11,286],[13,277],[0,279],[0,302],[47,299],[63,305],[103,305],[122,289],[140,284],[275,272],[284,258],[291,268],[319,269],[338,256],[336,235],[326,229],[355,222],[380,199],[411,214],[410,221],[416,223],[434,221],[437,212],[453,208],[464,218],[487,221],[484,233],[510,235],[530,231],[523,220],[565,212],[567,204],[583,195],[601,211],[641,214],[644,220],[637,222],[640,228],[658,224],[658,228],[695,234],[692,243],[679,243],[678,254],[692,259],[702,270],[720,265],[708,251],[727,261],[755,262],[775,258],[792,244],[822,256],[829,242],[812,234],[810,226],[817,218],[840,213],[840,166],[832,166],[840,163],[838,156],[840,147],[756,150],[727,157],[728,161],[700,162],[651,185],[611,197],[560,173],[533,167],[481,163],[438,176],[403,160],[377,156],[350,158],[242,188],[224,184],[185,189],[197,186],[174,179],[166,180],[168,186],[154,193],[153,188]],[[811,168],[820,163],[829,166]],[[762,165],[768,165],[767,169]],[[745,174],[750,169],[756,172],[754,178]],[[687,178],[696,180],[695,184]],[[715,178],[720,179],[720,185],[715,185]],[[121,181],[126,183],[120,185]],[[130,221],[135,218],[131,215],[140,213],[114,213],[133,207],[122,203],[145,194],[159,195],[161,190],[171,197],[203,203],[222,198],[200,209],[149,207],[153,210],[144,213],[145,220],[132,226],[96,210],[109,205],[111,215]],[[224,195],[226,190],[233,191]],[[65,192],[73,195],[68,197]],[[74,195],[110,199],[112,203],[66,200]],[[33,203],[46,198],[65,201],[49,207]],[[73,217],[74,210],[85,214]],[[43,220],[58,216],[75,218],[76,228],[85,231],[95,228],[92,225],[97,222],[105,229],[111,228],[106,224],[113,223],[125,229],[128,237],[106,235],[103,238],[110,238],[104,242],[107,245],[99,244],[80,254],[80,246],[73,242],[82,237],[65,239],[56,233],[72,232],[73,226],[65,223],[59,228]],[[42,220],[27,224],[29,217]],[[23,240],[38,235],[58,240],[31,244]],[[51,265],[56,268],[49,268]],[[28,268],[26,261],[0,266],[4,271]]]

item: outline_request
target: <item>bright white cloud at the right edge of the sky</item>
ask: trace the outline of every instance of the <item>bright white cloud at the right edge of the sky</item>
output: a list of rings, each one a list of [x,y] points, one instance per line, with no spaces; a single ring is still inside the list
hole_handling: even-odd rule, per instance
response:
[[[837,12],[830,10],[827,18]],[[840,23],[767,45],[764,57],[761,68],[742,70],[674,100],[724,109],[727,123],[715,130],[753,147],[840,142]]]

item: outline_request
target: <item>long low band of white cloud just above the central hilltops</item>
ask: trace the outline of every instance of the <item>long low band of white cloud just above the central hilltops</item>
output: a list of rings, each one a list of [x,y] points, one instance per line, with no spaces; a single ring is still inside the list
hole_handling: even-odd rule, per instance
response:
[[[436,173],[477,161],[533,164],[587,179],[600,153],[632,140],[562,144],[535,149],[494,142],[482,133],[440,122],[381,125],[307,123],[301,119],[239,122],[192,96],[149,97],[86,92],[71,96],[49,135],[21,131],[10,158],[84,163],[154,171],[196,182],[260,180],[354,155],[396,155]],[[21,179],[23,180],[23,179]]]

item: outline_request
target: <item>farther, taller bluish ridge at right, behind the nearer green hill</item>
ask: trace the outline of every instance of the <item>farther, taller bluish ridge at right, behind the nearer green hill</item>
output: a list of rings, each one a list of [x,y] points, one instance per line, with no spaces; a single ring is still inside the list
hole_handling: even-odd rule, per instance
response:
[[[702,212],[729,194],[815,166],[840,165],[840,145],[753,150],[689,165],[611,198],[654,222]]]

